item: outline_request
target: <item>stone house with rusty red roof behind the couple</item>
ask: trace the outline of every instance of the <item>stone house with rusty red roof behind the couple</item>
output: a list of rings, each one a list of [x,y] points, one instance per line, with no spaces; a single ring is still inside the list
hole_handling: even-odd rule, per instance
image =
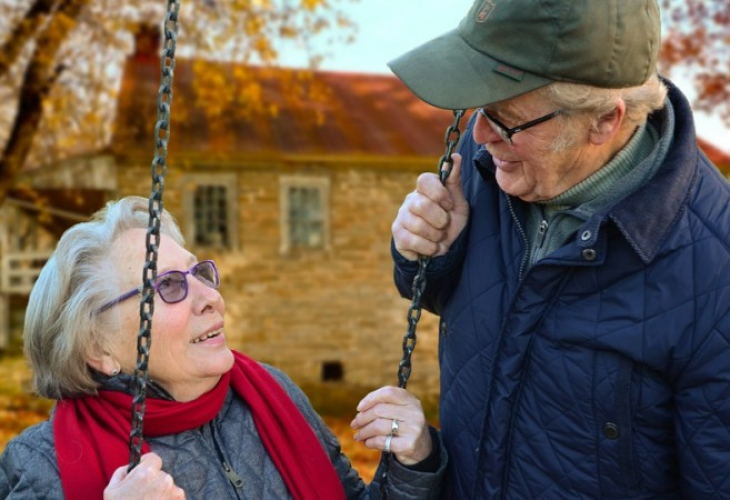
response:
[[[16,324],[63,229],[108,199],[150,193],[160,63],[139,48],[150,45],[126,61],[109,147],[33,174],[34,188],[52,195],[45,228],[22,192],[6,203],[5,221],[32,225],[38,240],[3,224],[2,291]],[[390,225],[419,173],[436,171],[452,114],[389,75],[246,67],[278,112],[239,113],[235,96],[248,89],[236,83],[214,100],[225,107],[213,120],[198,100],[206,89],[193,83],[201,64],[231,81],[244,70],[177,59],[163,199],[188,247],[219,265],[231,345],[305,388],[364,395],[397,384],[410,303],[392,284]],[[286,83],[302,79],[316,96]],[[436,330],[425,313],[409,382],[423,397],[438,392]]]

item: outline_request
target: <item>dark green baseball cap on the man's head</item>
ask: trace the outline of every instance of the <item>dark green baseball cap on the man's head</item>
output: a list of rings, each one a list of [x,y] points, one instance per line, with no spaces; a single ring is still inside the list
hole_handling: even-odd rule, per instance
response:
[[[552,81],[641,85],[660,31],[656,0],[476,0],[457,29],[388,66],[427,103],[469,109]]]

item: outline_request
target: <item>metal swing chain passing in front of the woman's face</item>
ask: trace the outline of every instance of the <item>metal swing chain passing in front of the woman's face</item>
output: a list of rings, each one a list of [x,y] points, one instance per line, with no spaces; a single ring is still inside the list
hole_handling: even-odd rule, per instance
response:
[[[157,124],[155,125],[155,157],[152,160],[152,192],[149,203],[149,226],[146,239],[146,261],[143,270],[142,301],[139,306],[140,326],[137,334],[137,366],[134,371],[135,392],[132,399],[132,430],[129,434],[129,471],[140,461],[144,434],[142,423],[149,380],[149,357],[152,338],[154,305],[154,281],[157,278],[157,254],[160,247],[160,215],[162,191],[167,170],[167,143],[170,140],[170,108],[172,106],[172,81],[177,46],[179,0],[168,0],[163,25],[164,46],[160,56],[160,89],[157,98]]]

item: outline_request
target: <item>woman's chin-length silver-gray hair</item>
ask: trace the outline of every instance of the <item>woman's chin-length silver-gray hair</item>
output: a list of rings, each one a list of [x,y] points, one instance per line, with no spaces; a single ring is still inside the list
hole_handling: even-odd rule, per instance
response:
[[[95,313],[119,294],[107,272],[109,252],[124,231],[148,227],[149,203],[139,196],[108,202],[89,222],[68,229],[43,266],[30,293],[23,332],[40,396],[96,393],[98,383],[86,359],[105,350],[105,334],[113,328],[104,318],[108,315]],[[160,233],[184,245],[177,222],[166,210],[160,216]]]

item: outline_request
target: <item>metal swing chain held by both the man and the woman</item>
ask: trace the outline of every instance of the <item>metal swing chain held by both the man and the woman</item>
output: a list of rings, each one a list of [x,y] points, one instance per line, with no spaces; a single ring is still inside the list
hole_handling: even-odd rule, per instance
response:
[[[461,138],[461,130],[459,129],[459,123],[461,118],[464,116],[465,110],[455,109],[454,122],[449,125],[446,129],[446,136],[444,143],[446,144],[446,151],[443,156],[439,158],[438,172],[441,179],[441,184],[446,184],[446,179],[451,174],[451,169],[454,166],[454,159],[451,154],[454,152],[454,148],[459,143]],[[398,364],[398,387],[405,389],[408,385],[408,379],[411,376],[411,355],[416,348],[416,327],[418,321],[421,319],[421,297],[426,289],[426,269],[431,261],[430,257],[420,255],[418,257],[418,272],[413,278],[413,285],[411,290],[413,291],[413,299],[411,306],[408,308],[408,331],[403,336],[403,358]],[[380,464],[380,498],[387,500],[388,491],[386,488],[388,469],[390,462],[388,456],[390,453],[383,452]]]

